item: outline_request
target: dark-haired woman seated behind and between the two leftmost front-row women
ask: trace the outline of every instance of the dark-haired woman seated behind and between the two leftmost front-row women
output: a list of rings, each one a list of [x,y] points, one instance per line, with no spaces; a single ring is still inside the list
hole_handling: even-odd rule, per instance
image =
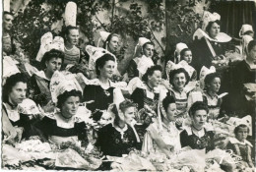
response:
[[[52,110],[51,94],[49,89],[50,79],[55,71],[59,71],[64,60],[62,51],[51,49],[46,52],[41,60],[44,70],[32,75],[29,82],[29,97],[36,104],[42,106],[44,111]]]

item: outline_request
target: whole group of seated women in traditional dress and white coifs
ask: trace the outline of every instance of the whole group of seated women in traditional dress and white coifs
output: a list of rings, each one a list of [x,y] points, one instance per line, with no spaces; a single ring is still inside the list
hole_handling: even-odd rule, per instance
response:
[[[37,135],[46,142],[86,146],[90,142],[89,127],[87,121],[77,115],[85,106],[95,122],[109,118],[107,124],[95,131],[94,144],[103,155],[122,156],[139,149],[169,157],[186,146],[206,151],[221,147],[214,130],[207,124],[221,117],[228,119],[226,111],[236,110],[224,106],[224,95],[218,95],[222,73],[212,68],[226,58],[222,44],[229,37],[220,33],[218,15],[207,13],[204,18],[208,23],[196,31],[194,46],[177,44],[175,61],[167,62],[165,69],[152,60],[154,43],[141,37],[137,46],[141,46],[142,55],[130,61],[126,82],[112,81],[113,75],[118,74],[115,54],[120,37],[105,31],[100,32],[104,41],[102,48],[91,45],[86,48],[90,56],[88,75],[71,74],[68,70],[83,63],[85,56],[76,47],[79,29],[67,27],[65,41],[53,40],[47,48],[42,47],[46,52],[38,60],[41,71],[33,72],[29,79],[19,72],[4,76],[2,140],[16,143]],[[43,43],[45,40],[41,39]],[[237,104],[245,105],[241,108],[251,107],[254,101],[253,98],[245,100],[246,92],[242,89],[244,84],[255,84],[256,41],[249,41],[245,48],[244,60],[234,70],[232,86],[225,90],[229,93],[225,104],[235,99]],[[39,114],[24,110],[22,102],[26,98],[35,102]],[[32,104],[25,106],[32,108]],[[227,107],[229,109],[225,109]],[[253,116],[254,111],[245,113]],[[246,141],[248,130],[251,126],[235,126],[235,137],[228,146],[222,147],[234,149],[246,167],[253,167],[252,143]]]

